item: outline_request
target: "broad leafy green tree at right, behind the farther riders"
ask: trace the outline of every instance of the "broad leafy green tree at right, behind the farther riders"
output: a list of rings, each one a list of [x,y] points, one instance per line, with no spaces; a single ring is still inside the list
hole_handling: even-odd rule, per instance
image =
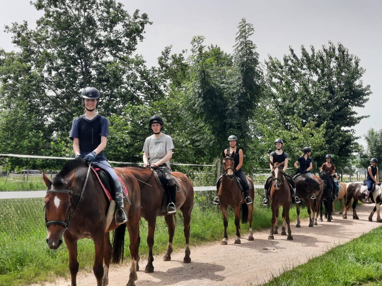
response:
[[[353,108],[364,107],[371,94],[364,86],[365,70],[360,59],[349,53],[341,43],[329,42],[322,50],[310,53],[301,46],[299,57],[292,48],[283,61],[269,56],[266,61],[267,81],[273,93],[270,105],[275,116],[292,131],[288,116],[297,116],[302,126],[314,122],[316,128],[325,124],[326,146],[314,150],[314,158],[322,163],[326,153],[337,158],[336,166],[349,164],[357,139],[352,129],[363,118]]]

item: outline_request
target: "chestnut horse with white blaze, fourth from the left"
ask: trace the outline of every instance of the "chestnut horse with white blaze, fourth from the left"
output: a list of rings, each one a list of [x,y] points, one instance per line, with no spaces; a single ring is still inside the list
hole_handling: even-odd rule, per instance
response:
[[[270,204],[272,209],[272,226],[268,239],[274,239],[273,234],[277,234],[277,220],[279,216],[279,208],[283,207],[282,213],[282,229],[281,235],[286,235],[285,223],[288,225],[287,240],[293,240],[292,231],[290,229],[289,209],[291,201],[291,193],[289,184],[284,176],[283,167],[279,163],[272,164],[272,180],[270,187]]]

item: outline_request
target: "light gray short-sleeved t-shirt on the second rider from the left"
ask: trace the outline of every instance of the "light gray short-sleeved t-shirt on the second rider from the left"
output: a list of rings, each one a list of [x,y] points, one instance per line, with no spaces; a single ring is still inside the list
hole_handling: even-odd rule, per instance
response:
[[[168,150],[174,150],[174,143],[171,136],[162,134],[160,138],[155,138],[154,134],[146,138],[143,144],[143,151],[148,153],[149,163],[156,163],[166,156]],[[170,168],[170,161],[166,162]]]

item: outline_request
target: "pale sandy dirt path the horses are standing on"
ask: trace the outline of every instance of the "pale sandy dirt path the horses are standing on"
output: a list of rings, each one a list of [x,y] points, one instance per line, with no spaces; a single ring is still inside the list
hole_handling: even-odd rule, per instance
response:
[[[287,241],[286,237],[281,235],[275,235],[274,240],[268,240],[269,230],[264,230],[255,232],[255,240],[252,242],[249,242],[244,235],[240,245],[233,244],[231,237],[226,246],[216,242],[206,246],[191,247],[190,264],[183,264],[184,250],[173,254],[170,262],[164,262],[162,257],[157,256],[154,260],[155,272],[151,274],[144,273],[147,260],[142,259],[146,258],[146,254],[141,254],[141,271],[138,272],[136,285],[259,285],[270,280],[272,276],[278,276],[285,270],[304,264],[335,246],[381,226],[380,223],[375,222],[376,214],[373,222],[368,221],[373,205],[362,205],[357,209],[360,220],[353,220],[353,215],[349,212],[348,219],[344,220],[342,215],[336,212],[332,222],[324,220],[313,228],[308,227],[307,220],[302,220],[301,228],[296,228],[293,223],[291,225],[293,241]],[[223,226],[221,231],[223,232]],[[109,285],[125,286],[129,278],[129,268],[128,263],[122,266],[113,265],[109,273]],[[80,273],[77,284],[78,286],[95,285],[93,273]],[[70,280],[59,279],[53,284],[43,285],[68,286]]]

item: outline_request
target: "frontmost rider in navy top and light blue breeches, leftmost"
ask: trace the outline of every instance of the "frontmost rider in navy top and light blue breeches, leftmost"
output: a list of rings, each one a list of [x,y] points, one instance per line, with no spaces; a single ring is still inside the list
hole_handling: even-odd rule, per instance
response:
[[[106,159],[104,148],[109,134],[109,123],[106,117],[96,111],[99,91],[94,87],[86,87],[81,91],[85,113],[73,120],[69,138],[73,140],[75,159],[85,158],[87,162],[106,171],[113,180],[115,200],[118,206],[116,224],[127,221],[123,210],[123,192],[118,176]]]

